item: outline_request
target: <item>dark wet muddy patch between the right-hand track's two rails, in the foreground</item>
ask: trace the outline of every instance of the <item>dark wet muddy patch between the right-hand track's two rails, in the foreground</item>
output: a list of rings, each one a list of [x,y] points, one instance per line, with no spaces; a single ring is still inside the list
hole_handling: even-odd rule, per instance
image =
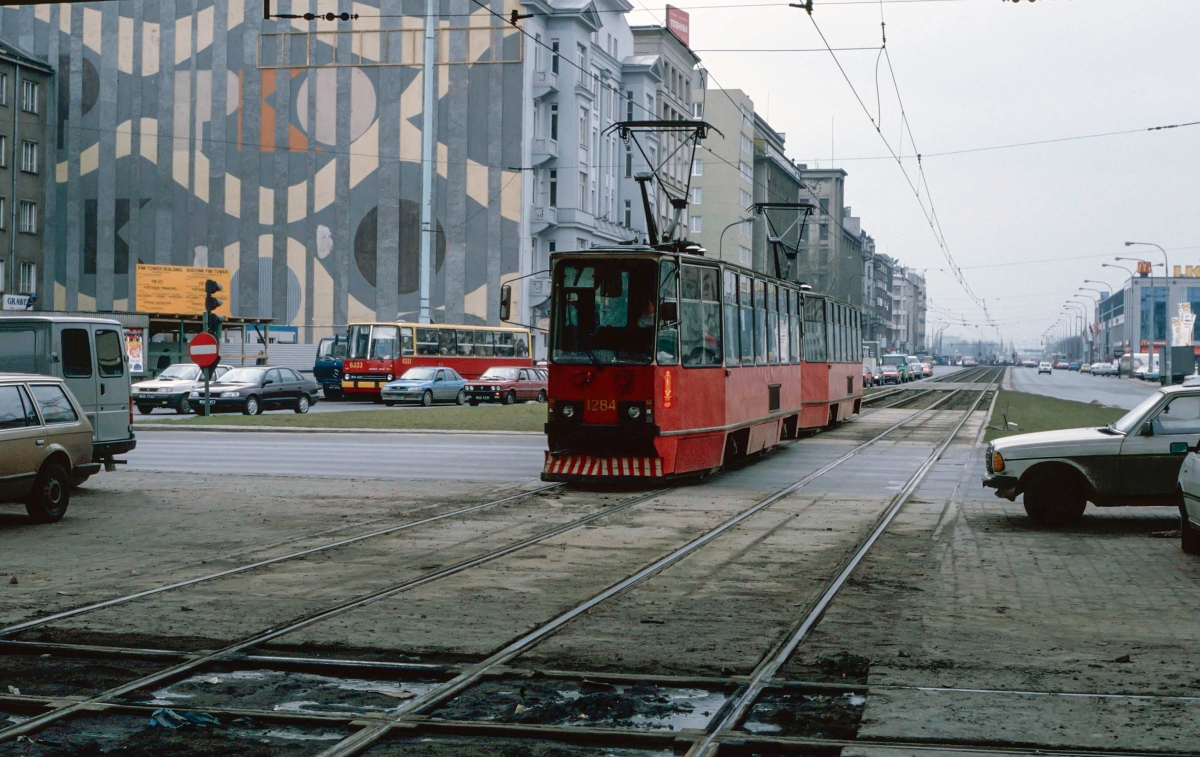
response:
[[[504,679],[480,684],[433,713],[446,720],[680,731],[704,728],[727,695],[654,684]]]

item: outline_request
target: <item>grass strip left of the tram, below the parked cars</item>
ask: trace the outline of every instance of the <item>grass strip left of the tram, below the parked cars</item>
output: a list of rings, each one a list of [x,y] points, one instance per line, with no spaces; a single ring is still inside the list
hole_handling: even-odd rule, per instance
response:
[[[163,422],[148,415],[143,422]],[[268,411],[262,415],[220,413],[209,417],[170,420],[173,427],[251,426],[256,428],[410,428],[434,431],[542,431],[546,405],[538,403],[432,408],[374,408],[344,413]],[[134,423],[137,428],[137,423]]]

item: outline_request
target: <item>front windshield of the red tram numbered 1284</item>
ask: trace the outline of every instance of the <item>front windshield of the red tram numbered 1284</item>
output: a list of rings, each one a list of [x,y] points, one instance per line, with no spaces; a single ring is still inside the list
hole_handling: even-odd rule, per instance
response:
[[[554,362],[654,360],[658,265],[653,260],[564,260],[554,276]]]

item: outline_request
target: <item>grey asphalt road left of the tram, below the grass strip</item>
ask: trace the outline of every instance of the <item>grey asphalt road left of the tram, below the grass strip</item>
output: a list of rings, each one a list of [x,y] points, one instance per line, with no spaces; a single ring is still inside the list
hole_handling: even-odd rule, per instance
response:
[[[541,434],[139,431],[130,468],[233,475],[522,481],[541,474]]]

